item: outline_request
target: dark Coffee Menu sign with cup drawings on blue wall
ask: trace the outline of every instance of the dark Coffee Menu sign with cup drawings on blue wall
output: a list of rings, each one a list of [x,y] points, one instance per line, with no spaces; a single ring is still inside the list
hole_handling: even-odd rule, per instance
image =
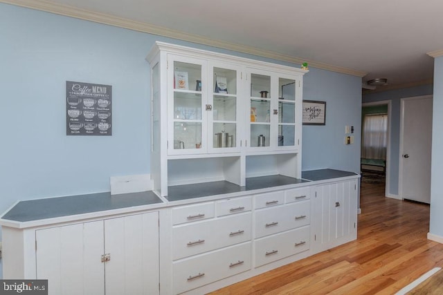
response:
[[[112,135],[112,86],[66,81],[66,135]]]

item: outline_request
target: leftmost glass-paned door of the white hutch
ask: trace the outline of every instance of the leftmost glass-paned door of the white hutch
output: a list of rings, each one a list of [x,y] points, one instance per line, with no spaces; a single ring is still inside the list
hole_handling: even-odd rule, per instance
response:
[[[198,59],[168,59],[168,117],[172,117],[168,120],[168,134],[172,133],[172,138],[168,135],[168,151],[172,154],[201,153],[206,149],[205,70],[206,65]]]

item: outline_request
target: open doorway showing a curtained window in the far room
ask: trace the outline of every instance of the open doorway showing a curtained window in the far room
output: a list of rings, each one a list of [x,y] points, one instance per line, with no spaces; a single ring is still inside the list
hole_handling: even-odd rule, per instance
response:
[[[383,184],[385,196],[390,185],[390,118],[390,100],[362,104],[361,181]]]

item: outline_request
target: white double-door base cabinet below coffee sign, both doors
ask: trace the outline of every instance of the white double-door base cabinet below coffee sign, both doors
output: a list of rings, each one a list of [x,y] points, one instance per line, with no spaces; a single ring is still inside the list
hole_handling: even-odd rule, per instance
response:
[[[49,294],[159,294],[159,213],[37,229]]]

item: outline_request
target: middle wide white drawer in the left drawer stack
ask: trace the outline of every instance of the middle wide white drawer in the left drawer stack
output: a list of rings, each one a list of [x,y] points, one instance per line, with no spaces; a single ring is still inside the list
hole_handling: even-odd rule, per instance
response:
[[[251,212],[172,229],[174,260],[251,240]]]

